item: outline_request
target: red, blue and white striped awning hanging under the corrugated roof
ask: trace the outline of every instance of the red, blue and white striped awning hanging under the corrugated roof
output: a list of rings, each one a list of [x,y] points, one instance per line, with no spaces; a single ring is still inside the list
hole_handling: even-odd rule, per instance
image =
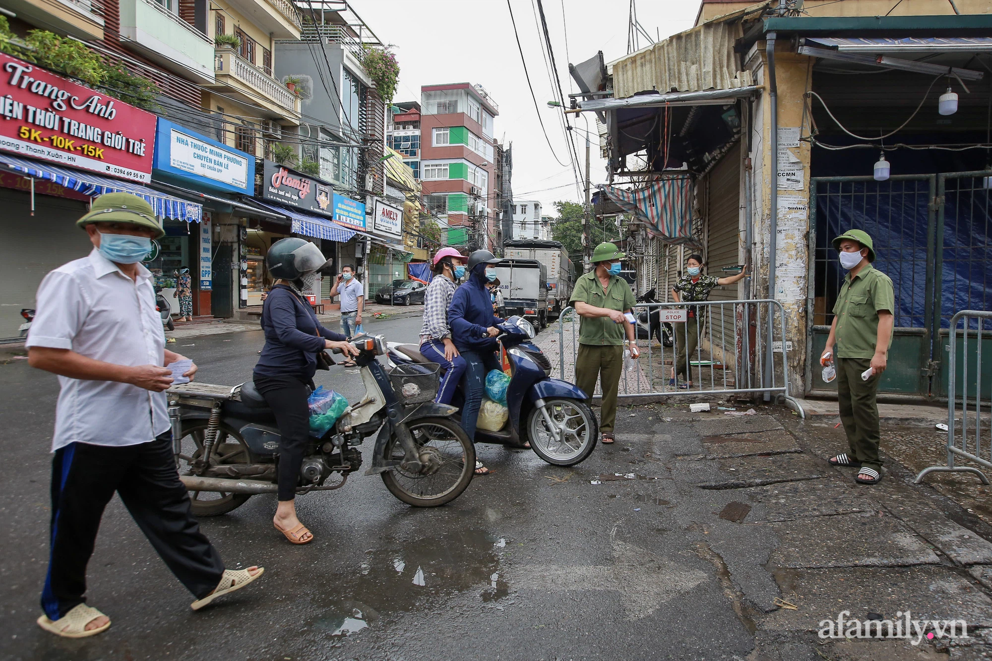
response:
[[[620,208],[648,224],[649,232],[666,243],[694,244],[692,236],[692,180],[677,177],[652,182],[642,189],[599,189]]]

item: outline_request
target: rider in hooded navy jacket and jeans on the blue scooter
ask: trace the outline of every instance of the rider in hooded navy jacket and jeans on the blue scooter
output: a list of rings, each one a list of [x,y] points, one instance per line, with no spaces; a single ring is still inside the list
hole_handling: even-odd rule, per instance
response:
[[[493,303],[486,283],[496,279],[496,264],[500,261],[488,250],[476,250],[468,256],[468,281],[454,292],[447,309],[447,323],[451,340],[465,359],[467,367],[461,377],[465,406],[461,409],[461,428],[472,441],[479,407],[486,390],[486,374],[492,369],[502,369],[496,357],[496,324],[500,320],[493,314]],[[480,470],[482,472],[480,472]],[[476,474],[488,469],[476,465]]]

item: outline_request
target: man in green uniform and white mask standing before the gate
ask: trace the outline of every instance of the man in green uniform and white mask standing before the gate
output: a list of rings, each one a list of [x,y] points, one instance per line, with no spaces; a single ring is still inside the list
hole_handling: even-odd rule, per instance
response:
[[[833,247],[849,273],[833,306],[833,324],[819,361],[836,364],[840,421],[851,452],[830,463],[858,466],[855,481],[875,484],[882,478],[875,395],[892,346],[896,297],[889,276],[871,265],[875,249],[867,232],[849,229],[833,239]]]

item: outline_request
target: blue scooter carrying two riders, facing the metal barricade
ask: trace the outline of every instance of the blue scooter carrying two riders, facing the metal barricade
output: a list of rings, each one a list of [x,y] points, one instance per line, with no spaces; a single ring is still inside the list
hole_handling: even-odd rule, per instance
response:
[[[555,465],[583,462],[595,450],[599,423],[585,403],[585,393],[567,381],[551,377],[552,364],[531,339],[536,332],[522,317],[511,317],[496,326],[499,355],[510,363],[506,391],[509,420],[498,432],[476,429],[476,443],[523,448],[530,442],[538,456]],[[432,362],[416,344],[390,342],[394,364]],[[459,391],[458,397],[461,396]],[[461,406],[462,402],[452,404]]]

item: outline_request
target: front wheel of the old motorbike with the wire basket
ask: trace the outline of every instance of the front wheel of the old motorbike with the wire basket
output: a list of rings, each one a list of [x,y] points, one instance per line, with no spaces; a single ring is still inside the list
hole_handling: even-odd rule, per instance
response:
[[[409,424],[422,453],[432,455],[438,467],[430,475],[394,468],[382,473],[386,488],[415,507],[436,507],[461,495],[475,471],[475,446],[450,418],[422,418]],[[400,461],[403,448],[395,436],[386,444],[387,460]]]

